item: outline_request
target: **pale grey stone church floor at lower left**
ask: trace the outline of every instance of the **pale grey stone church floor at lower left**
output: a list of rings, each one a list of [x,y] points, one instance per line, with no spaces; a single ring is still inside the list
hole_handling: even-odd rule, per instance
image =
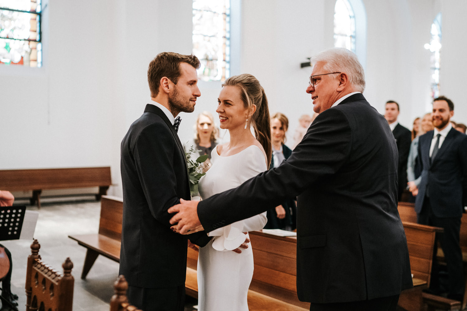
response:
[[[100,202],[92,197],[43,199],[41,209],[29,205],[28,200],[15,200],[14,205],[24,204],[28,210],[39,212],[34,238],[41,245],[42,261],[63,273],[66,257],[73,262],[71,275],[75,278],[73,311],[109,310],[113,295],[113,282],[117,279],[119,264],[99,256],[85,280],[80,278],[86,249],[68,235],[97,233],[99,228]],[[25,310],[26,262],[32,240],[0,241],[10,250],[13,260],[11,290],[18,295],[18,310]],[[196,310],[195,299],[187,297],[185,311]]]

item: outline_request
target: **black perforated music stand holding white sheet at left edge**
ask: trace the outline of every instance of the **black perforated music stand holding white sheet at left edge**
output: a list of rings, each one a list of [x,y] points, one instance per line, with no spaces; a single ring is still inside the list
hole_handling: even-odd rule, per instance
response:
[[[0,207],[0,241],[28,239],[34,236],[39,213],[26,206]]]

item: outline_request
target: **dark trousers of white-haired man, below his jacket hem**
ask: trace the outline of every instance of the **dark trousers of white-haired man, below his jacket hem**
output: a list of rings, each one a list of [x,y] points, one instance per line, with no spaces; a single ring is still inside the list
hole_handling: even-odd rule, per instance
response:
[[[396,311],[398,301],[399,295],[344,303],[311,303],[310,311]]]

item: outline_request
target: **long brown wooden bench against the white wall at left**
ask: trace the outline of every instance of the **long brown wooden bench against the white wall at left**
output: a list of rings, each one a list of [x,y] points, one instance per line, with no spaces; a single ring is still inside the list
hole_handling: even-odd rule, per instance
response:
[[[68,189],[99,187],[96,199],[107,194],[112,184],[110,167],[44,168],[24,170],[0,170],[0,189],[8,191],[32,190],[31,205],[37,202],[44,189]]]

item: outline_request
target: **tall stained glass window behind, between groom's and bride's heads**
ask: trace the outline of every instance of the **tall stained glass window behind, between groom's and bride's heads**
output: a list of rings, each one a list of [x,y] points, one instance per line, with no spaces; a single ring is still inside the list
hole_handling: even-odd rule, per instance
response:
[[[224,81],[230,67],[230,0],[193,0],[193,54],[198,78]]]

